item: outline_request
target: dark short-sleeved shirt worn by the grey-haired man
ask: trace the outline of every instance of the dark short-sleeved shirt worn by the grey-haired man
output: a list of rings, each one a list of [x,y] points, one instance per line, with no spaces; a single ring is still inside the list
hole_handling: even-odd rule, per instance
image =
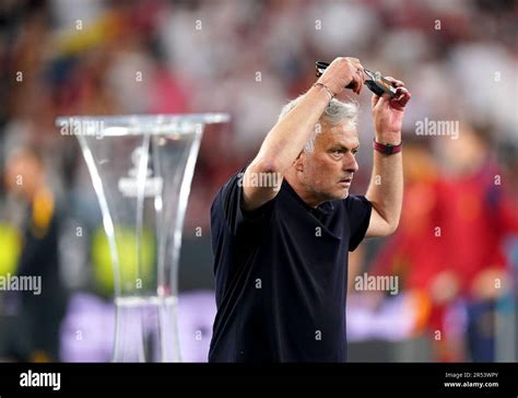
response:
[[[240,209],[234,175],[211,207],[217,315],[210,362],[344,362],[348,251],[372,206],[349,196],[306,204],[283,182],[274,199]]]

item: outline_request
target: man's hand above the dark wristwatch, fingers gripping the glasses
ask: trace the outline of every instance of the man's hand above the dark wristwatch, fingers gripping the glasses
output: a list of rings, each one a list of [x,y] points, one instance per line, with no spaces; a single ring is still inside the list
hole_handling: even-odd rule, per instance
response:
[[[373,95],[373,118],[376,129],[376,141],[380,143],[398,144],[401,142],[401,126],[403,121],[404,107],[411,94],[404,87],[404,83],[393,78],[387,78],[398,87],[396,97],[390,98],[388,94]]]

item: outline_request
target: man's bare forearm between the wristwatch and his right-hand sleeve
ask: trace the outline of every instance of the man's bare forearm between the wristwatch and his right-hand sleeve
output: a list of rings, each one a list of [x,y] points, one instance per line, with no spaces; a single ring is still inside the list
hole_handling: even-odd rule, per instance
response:
[[[393,232],[399,224],[403,200],[401,152],[385,155],[374,151],[373,176],[366,197],[373,203],[374,209],[387,222],[390,232]]]

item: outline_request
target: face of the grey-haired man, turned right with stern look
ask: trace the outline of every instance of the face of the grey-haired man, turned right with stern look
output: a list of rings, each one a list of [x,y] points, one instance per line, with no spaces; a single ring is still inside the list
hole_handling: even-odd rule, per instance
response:
[[[315,151],[303,152],[297,164],[304,189],[317,202],[345,199],[353,174],[358,169],[355,154],[360,147],[355,128],[348,122],[322,122],[321,132],[315,139]]]

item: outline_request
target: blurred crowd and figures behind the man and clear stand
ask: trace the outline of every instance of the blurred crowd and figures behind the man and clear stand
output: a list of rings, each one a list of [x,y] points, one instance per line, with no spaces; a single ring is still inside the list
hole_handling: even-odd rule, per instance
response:
[[[350,360],[516,362],[517,22],[513,0],[2,0],[0,276],[42,276],[44,289],[0,291],[0,359],[111,358],[101,212],[58,115],[231,115],[204,133],[179,267],[183,356],[204,362],[214,195],[316,81],[315,61],[352,56],[413,95],[399,230],[351,254]],[[352,99],[363,143],[352,192],[362,195],[370,94]],[[442,121],[458,131],[420,133]],[[397,276],[398,294],[358,291],[364,274]]]

